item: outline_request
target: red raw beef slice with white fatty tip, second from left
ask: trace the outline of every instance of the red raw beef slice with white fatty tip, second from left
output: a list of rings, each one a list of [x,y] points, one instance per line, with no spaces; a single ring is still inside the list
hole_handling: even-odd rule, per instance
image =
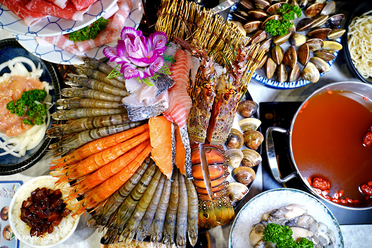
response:
[[[47,0],[31,0],[27,5],[27,9],[44,15],[56,16],[63,19],[82,21],[83,15],[89,10],[89,7],[83,10],[76,10],[74,4],[67,3],[64,9],[61,9],[54,3]]]

